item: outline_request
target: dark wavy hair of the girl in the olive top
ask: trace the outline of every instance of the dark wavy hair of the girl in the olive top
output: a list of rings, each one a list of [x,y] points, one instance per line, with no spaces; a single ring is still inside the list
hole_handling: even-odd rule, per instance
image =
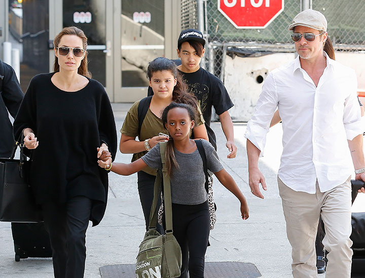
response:
[[[195,109],[198,109],[198,100],[194,96],[188,92],[188,86],[182,81],[181,74],[177,71],[176,64],[170,59],[164,57],[158,57],[152,62],[150,62],[147,68],[147,78],[151,80],[152,75],[157,71],[167,70],[172,73],[174,77],[176,77],[176,85],[172,91],[172,101],[176,103],[185,103],[188,104]]]

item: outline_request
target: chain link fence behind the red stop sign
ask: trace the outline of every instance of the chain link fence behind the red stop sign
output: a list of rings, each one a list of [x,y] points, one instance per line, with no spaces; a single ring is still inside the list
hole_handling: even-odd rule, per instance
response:
[[[223,80],[227,51],[295,52],[287,27],[302,10],[302,0],[285,0],[284,10],[264,29],[237,29],[217,9],[217,0],[205,0],[205,68]],[[312,0],[312,9],[324,14],[337,51],[365,51],[365,5],[362,0]],[[181,28],[197,28],[196,0],[181,0]]]

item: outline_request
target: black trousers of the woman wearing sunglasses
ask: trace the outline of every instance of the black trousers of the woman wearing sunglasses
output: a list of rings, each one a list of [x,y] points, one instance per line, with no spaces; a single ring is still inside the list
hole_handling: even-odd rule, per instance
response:
[[[92,200],[77,196],[65,204],[42,205],[49,233],[55,278],[83,278],[85,272],[86,229]]]

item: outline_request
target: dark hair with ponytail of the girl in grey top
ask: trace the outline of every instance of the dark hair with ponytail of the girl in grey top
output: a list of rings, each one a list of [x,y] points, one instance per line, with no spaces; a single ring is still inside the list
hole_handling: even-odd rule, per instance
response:
[[[188,104],[184,104],[184,103],[172,102],[162,112],[162,122],[163,122],[164,126],[166,126],[166,124],[167,124],[167,114],[173,108],[186,109],[188,111],[190,120],[196,122],[196,120],[195,120],[196,119],[196,110],[195,110],[194,107],[192,107]],[[176,158],[175,158],[174,151],[173,151],[173,140],[172,140],[172,138],[170,138],[170,140],[167,142],[165,158],[166,158],[167,173],[168,173],[169,176],[172,176],[173,168],[177,169],[179,167],[179,165],[176,161]]]

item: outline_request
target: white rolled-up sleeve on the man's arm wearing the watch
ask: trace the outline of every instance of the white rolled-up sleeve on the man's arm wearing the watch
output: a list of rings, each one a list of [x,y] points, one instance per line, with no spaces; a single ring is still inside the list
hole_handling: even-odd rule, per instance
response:
[[[349,78],[349,95],[345,100],[343,122],[347,140],[353,140],[365,130],[365,118],[361,117],[361,110],[357,100],[357,80],[353,71]]]

